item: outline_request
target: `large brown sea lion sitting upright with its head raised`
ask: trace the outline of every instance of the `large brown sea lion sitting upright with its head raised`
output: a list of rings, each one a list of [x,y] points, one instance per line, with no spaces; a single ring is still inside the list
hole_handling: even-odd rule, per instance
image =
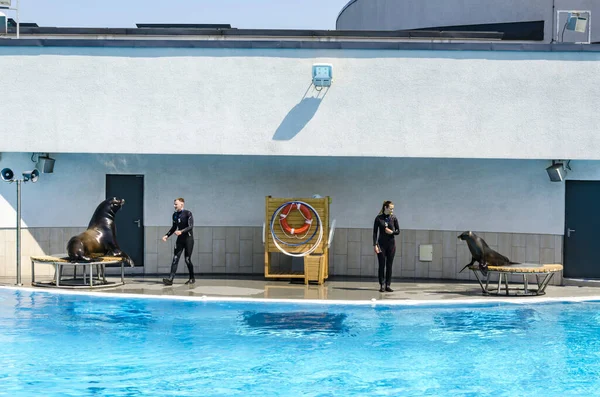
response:
[[[71,262],[91,262],[92,256],[117,256],[129,266],[133,261],[117,243],[115,214],[125,204],[116,197],[104,200],[98,205],[85,232],[71,237],[67,243],[67,253]]]

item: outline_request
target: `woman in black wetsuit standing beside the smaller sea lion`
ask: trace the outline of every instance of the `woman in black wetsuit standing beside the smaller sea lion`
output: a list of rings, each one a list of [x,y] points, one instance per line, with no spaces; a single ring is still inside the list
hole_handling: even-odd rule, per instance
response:
[[[384,201],[373,225],[373,246],[379,262],[379,292],[394,292],[392,284],[392,264],[396,255],[396,240],[400,234],[398,218],[394,216],[394,203]],[[384,281],[385,269],[385,281]],[[385,284],[384,284],[385,282]]]

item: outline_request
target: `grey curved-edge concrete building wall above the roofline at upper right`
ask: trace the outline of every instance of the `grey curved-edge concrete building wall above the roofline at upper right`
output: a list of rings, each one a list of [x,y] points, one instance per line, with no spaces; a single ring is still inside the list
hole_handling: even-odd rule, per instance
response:
[[[553,13],[554,6],[554,13]],[[589,10],[592,13],[592,39],[600,41],[594,16],[600,13],[595,0],[352,0],[340,12],[338,30],[407,30],[438,26],[544,21],[544,42],[558,38],[555,21],[558,10]],[[558,17],[559,31],[566,14]],[[586,33],[565,32],[564,42],[587,41]]]

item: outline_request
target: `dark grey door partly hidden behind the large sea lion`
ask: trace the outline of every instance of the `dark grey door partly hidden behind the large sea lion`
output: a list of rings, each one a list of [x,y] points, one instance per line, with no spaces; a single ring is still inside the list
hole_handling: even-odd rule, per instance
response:
[[[144,266],[144,176],[106,175],[106,198],[125,199],[117,213],[117,242],[121,250]]]

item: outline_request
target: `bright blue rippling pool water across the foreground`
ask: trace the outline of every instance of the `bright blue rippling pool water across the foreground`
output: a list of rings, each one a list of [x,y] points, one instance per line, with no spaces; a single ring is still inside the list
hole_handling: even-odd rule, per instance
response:
[[[599,309],[0,289],[0,395],[591,396],[600,391]]]

